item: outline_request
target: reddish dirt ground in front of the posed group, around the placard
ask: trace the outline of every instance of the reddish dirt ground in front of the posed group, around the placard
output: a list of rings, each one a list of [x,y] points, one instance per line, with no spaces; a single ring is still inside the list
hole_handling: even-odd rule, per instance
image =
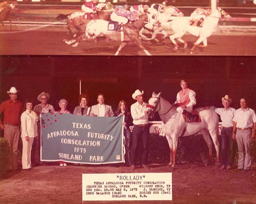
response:
[[[150,169],[118,165],[46,165],[9,173],[0,181],[0,203],[83,203],[82,174],[170,172],[166,163]],[[236,166],[234,167],[236,168]],[[256,203],[256,168],[249,172],[179,164],[172,173],[172,201],[84,201],[84,203]]]

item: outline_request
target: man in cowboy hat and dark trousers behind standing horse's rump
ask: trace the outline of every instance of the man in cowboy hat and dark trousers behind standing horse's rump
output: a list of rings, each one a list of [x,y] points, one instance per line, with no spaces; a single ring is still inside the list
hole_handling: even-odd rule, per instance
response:
[[[221,125],[221,151],[220,151],[220,169],[231,170],[234,160],[234,140],[232,138],[233,132],[233,118],[235,115],[235,108],[230,107],[232,99],[229,95],[221,99],[223,108],[216,108],[215,112],[220,116]]]

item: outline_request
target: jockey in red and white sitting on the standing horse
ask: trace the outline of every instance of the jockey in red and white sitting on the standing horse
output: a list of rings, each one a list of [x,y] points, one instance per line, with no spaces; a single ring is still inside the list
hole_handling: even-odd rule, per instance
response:
[[[174,102],[174,107],[177,107],[178,113],[181,113],[188,117],[189,122],[198,119],[198,115],[193,115],[190,112],[193,110],[193,106],[197,104],[196,93],[194,90],[189,89],[186,80],[181,80],[181,91],[177,94],[177,100]]]

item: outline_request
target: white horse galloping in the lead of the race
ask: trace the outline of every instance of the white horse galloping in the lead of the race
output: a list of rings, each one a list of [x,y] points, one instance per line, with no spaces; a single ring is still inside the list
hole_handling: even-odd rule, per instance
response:
[[[210,15],[205,17],[202,27],[190,26],[189,18],[185,18],[185,17],[175,18],[172,22],[169,23],[169,25],[165,24],[157,28],[154,31],[152,38],[149,40],[153,40],[156,34],[162,29],[164,29],[165,27],[171,26],[171,29],[174,31],[174,34],[170,35],[169,38],[174,44],[174,50],[178,49],[178,44],[177,42],[175,42],[175,39],[183,43],[184,48],[187,48],[187,42],[181,39],[186,32],[193,34],[195,36],[199,36],[199,39],[195,42],[195,45],[190,49],[190,53],[193,54],[193,51],[195,50],[196,47],[207,46],[207,38],[209,38],[209,36],[212,35],[213,30],[217,26],[220,18],[225,18],[225,20],[230,20],[231,16],[221,8],[211,10]],[[203,43],[203,45],[199,45],[200,43]]]

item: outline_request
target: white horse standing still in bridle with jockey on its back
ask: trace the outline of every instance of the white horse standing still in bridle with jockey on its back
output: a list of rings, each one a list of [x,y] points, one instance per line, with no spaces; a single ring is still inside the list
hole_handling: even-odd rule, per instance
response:
[[[152,97],[149,99],[147,104],[148,116],[151,116],[154,112],[158,112],[159,117],[162,120],[162,128],[166,135],[166,139],[170,149],[170,162],[168,166],[172,170],[176,164],[176,154],[178,146],[178,138],[194,135],[201,132],[203,139],[205,140],[209,148],[209,161],[212,160],[212,140],[216,150],[216,166],[219,163],[219,142],[218,142],[218,123],[219,118],[214,110],[205,110],[204,108],[196,108],[199,113],[201,122],[190,122],[187,123],[183,115],[178,113],[176,108],[171,105],[168,101],[163,99],[159,94],[153,92]],[[211,135],[211,138],[209,136]]]

